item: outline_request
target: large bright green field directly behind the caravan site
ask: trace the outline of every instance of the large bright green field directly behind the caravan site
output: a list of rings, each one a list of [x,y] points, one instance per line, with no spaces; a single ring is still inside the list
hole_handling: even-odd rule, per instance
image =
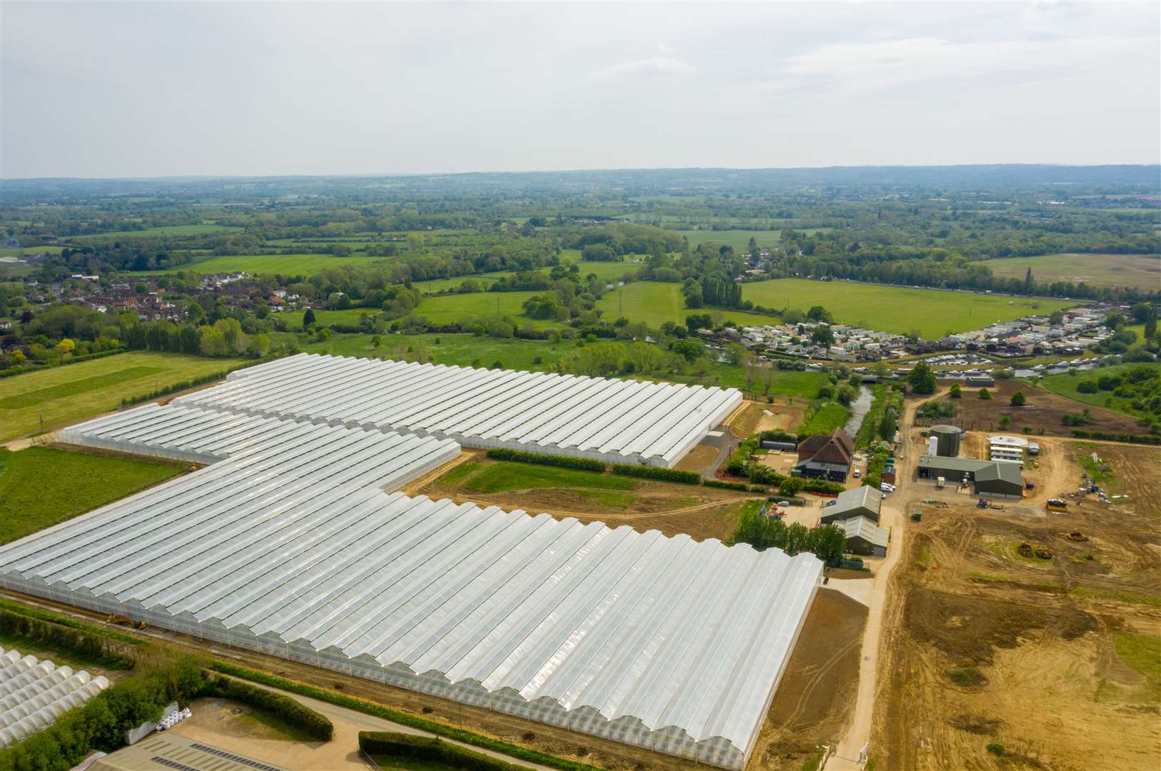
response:
[[[841,323],[906,335],[918,332],[925,340],[947,333],[980,329],[1032,313],[1051,313],[1076,305],[1069,300],[1038,300],[1005,294],[976,294],[937,289],[908,289],[846,281],[777,278],[742,288],[742,297],[766,307],[807,311],[825,307]]]

